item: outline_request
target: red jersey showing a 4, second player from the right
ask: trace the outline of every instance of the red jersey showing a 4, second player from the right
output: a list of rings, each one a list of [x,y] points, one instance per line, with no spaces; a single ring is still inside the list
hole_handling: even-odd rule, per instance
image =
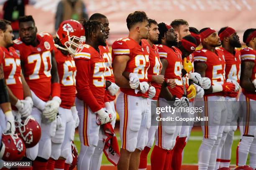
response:
[[[235,49],[235,56],[225,50],[225,48],[220,47],[223,50],[225,56],[225,78],[230,79],[232,81],[240,82],[241,75],[241,53],[239,50]],[[228,93],[229,97],[236,97],[238,95],[238,91],[235,93]]]

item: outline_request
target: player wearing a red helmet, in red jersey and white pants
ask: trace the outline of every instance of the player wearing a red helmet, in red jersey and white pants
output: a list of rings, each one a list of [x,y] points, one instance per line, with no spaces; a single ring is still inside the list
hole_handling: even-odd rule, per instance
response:
[[[64,29],[67,25],[69,30]],[[72,156],[70,150],[71,142],[74,140],[74,130],[79,125],[77,109],[74,106],[77,69],[72,52],[73,50],[77,50],[77,52],[82,50],[84,41],[84,28],[76,20],[63,21],[54,38],[55,46],[57,47],[54,48],[54,56],[61,85],[61,105],[59,107],[61,126],[57,127],[55,136],[51,138],[51,158],[48,160],[47,170],[53,170],[54,168],[64,169],[65,160]],[[73,50],[65,47],[67,43],[72,45]],[[70,165],[71,163],[72,161],[69,160],[68,164]]]

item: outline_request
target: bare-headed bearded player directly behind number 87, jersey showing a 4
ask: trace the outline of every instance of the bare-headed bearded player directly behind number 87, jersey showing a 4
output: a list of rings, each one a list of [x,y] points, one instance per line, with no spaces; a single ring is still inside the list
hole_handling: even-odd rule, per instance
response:
[[[160,74],[162,64],[160,61],[158,48],[155,45],[158,43],[158,38],[159,38],[158,25],[157,25],[157,22],[152,19],[148,20],[148,25],[150,28],[150,31],[148,34],[148,39],[141,40],[141,45],[142,45],[142,47],[144,47],[146,45],[149,47],[150,67],[148,68],[148,82],[151,82],[151,85],[154,86],[156,89],[156,95],[152,99],[149,99],[150,100],[149,104],[151,105],[151,101],[158,100],[162,83],[167,81],[167,82],[169,82],[169,85],[175,86],[175,81],[174,81],[174,79],[165,81],[164,75]],[[141,152],[141,156],[140,156],[139,169],[141,169],[141,170],[144,170],[147,168],[147,156],[148,156],[148,153],[149,153],[152,145],[154,144],[154,136],[155,136],[157,128],[158,128],[158,126],[151,125],[151,127],[148,131],[147,145],[144,148],[144,150]]]

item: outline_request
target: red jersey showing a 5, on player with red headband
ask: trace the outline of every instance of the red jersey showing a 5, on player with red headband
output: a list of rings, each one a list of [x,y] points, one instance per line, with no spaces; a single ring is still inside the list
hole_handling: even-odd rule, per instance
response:
[[[225,81],[225,58],[223,51],[216,49],[215,52],[202,48],[194,52],[194,62],[205,62],[207,69],[205,77],[209,77],[211,85],[223,85]],[[205,94],[205,96],[225,96],[223,92]]]

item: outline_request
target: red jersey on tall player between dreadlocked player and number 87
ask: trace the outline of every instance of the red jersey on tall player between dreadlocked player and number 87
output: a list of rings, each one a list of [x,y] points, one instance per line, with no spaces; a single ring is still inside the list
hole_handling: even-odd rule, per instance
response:
[[[100,55],[104,58],[106,71],[104,72],[104,76],[106,80],[110,82],[115,82],[113,67],[112,67],[112,56],[109,50],[108,44],[106,46],[99,46]],[[110,95],[108,90],[105,90],[105,102],[110,102],[115,100],[115,95]]]

